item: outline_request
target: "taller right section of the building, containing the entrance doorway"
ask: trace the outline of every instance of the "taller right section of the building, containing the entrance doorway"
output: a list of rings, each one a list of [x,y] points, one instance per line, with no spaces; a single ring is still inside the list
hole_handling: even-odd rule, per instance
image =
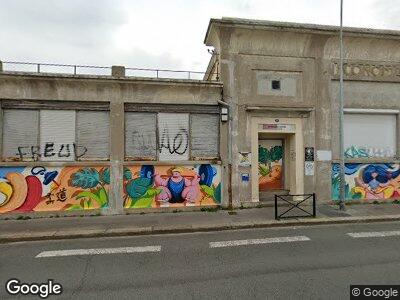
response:
[[[234,206],[288,192],[315,192],[320,203],[338,199],[338,33],[333,26],[210,21],[209,70],[218,70],[231,113]],[[344,48],[346,199],[399,198],[400,32],[345,28]]]

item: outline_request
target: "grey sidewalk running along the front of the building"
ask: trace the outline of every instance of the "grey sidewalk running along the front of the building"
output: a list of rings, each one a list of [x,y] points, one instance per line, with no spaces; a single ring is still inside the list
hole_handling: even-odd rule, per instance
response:
[[[400,220],[400,204],[317,207],[316,218],[274,219],[274,208],[238,209],[215,212],[149,213],[119,216],[88,216],[1,220],[0,243],[43,239],[71,239],[144,234],[216,231],[227,229],[316,225]]]

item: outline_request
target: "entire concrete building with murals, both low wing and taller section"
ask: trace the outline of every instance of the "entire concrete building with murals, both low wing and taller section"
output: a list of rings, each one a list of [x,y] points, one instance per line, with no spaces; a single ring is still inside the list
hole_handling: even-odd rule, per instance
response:
[[[203,80],[4,68],[0,214],[337,200],[338,28],[212,19],[205,44]],[[344,45],[346,199],[393,201],[400,32],[345,28]]]

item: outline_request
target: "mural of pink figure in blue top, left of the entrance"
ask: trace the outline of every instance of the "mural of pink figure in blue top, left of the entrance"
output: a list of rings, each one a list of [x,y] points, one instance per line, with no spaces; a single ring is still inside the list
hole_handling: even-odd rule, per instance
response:
[[[124,207],[218,205],[220,166],[129,166],[124,168]]]

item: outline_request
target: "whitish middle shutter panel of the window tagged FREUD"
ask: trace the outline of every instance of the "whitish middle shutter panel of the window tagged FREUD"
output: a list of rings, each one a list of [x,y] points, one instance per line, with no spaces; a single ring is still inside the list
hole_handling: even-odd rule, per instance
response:
[[[75,111],[40,111],[42,161],[75,160]]]

